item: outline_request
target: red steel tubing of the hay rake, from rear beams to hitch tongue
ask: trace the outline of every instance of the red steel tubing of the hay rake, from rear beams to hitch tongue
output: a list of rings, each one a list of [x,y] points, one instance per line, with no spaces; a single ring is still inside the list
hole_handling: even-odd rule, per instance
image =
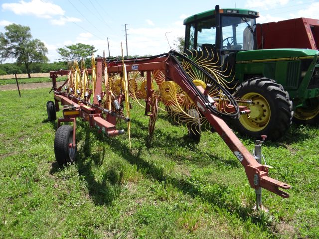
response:
[[[226,145],[229,149],[233,152],[236,158],[240,161],[240,163],[245,168],[245,172],[249,181],[249,184],[254,189],[264,188],[268,191],[271,191],[283,198],[288,198],[289,194],[280,190],[282,189],[289,189],[290,185],[280,182],[276,179],[273,179],[268,176],[268,168],[265,165],[260,164],[256,161],[255,157],[247,150],[247,148],[241,143],[238,137],[233,133],[233,131],[229,128],[229,126],[225,123],[223,119],[217,117],[216,115],[212,114],[211,111],[205,105],[205,102],[202,101],[202,98],[199,96],[198,90],[194,89],[194,86],[189,83],[186,79],[187,77],[183,73],[182,69],[178,66],[176,62],[176,58],[166,55],[160,56],[157,58],[150,58],[150,59],[142,59],[142,60],[125,60],[126,64],[126,73],[123,73],[122,62],[110,62],[108,63],[108,73],[120,73],[120,74],[129,74],[131,71],[139,71],[144,72],[146,71],[147,76],[147,99],[146,99],[146,110],[145,115],[152,116],[151,108],[152,106],[152,97],[154,90],[151,89],[152,79],[151,73],[155,72],[156,70],[160,70],[165,75],[165,81],[174,81],[177,83],[181,89],[190,97],[190,99],[196,104],[198,110],[202,113],[203,116],[209,121],[211,126],[215,129],[215,131],[221,136],[224,140]],[[102,58],[97,58],[97,88],[94,91],[94,101],[96,99],[97,94],[108,94],[101,92],[101,85],[102,85]],[[53,88],[56,89],[55,92],[59,92],[62,88],[56,87],[56,77],[57,75],[67,75],[69,71],[54,71],[50,72],[50,77],[52,78]],[[88,73],[90,73],[90,69],[88,69]],[[65,83],[64,83],[65,84]],[[63,85],[64,85],[63,84]],[[100,86],[98,86],[100,85]],[[203,89],[202,89],[203,90]],[[64,94],[64,96],[63,96]],[[115,136],[119,134],[120,131],[115,129],[116,120],[115,117],[108,114],[106,119],[103,119],[101,114],[101,110],[98,108],[92,109],[90,108],[89,111],[91,114],[88,114],[85,111],[85,107],[83,103],[80,103],[78,100],[72,99],[70,96],[67,96],[65,93],[63,94],[56,94],[55,100],[61,101],[62,104],[79,104],[76,109],[79,110],[79,116],[83,119],[90,121],[90,126],[98,127],[99,131],[105,132],[102,127],[106,127],[110,129],[110,136]],[[123,96],[124,97],[124,96]],[[96,103],[97,105],[100,104],[99,102]],[[58,107],[57,107],[58,109]],[[229,106],[231,109],[231,106]],[[108,109],[111,111],[111,109]],[[93,121],[92,121],[93,118]],[[99,118],[97,120],[97,118]],[[94,120],[95,119],[95,120]],[[75,124],[75,120],[71,117],[69,121],[73,121]],[[95,125],[94,125],[95,124]],[[112,124],[113,126],[111,126]]]

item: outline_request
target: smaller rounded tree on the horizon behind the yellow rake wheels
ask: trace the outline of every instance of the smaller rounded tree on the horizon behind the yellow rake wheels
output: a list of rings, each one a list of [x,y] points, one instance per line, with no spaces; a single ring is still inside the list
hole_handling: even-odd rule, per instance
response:
[[[57,52],[61,55],[61,59],[64,61],[80,61],[82,58],[85,60],[92,56],[97,50],[92,45],[86,45],[82,43],[72,44],[58,48]]]

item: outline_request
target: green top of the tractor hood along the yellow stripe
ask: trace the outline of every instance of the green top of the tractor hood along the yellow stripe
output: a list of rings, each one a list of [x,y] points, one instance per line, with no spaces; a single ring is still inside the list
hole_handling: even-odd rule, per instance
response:
[[[236,54],[236,63],[313,59],[318,54],[317,50],[287,48],[239,51]]]

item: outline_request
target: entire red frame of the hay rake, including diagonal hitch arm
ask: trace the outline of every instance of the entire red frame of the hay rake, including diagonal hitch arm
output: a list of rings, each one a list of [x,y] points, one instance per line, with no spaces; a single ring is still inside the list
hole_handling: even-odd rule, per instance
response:
[[[112,109],[103,109],[100,106],[100,102],[97,100],[97,95],[103,97],[106,92],[102,92],[102,74],[103,70],[103,58],[97,58],[96,69],[97,69],[97,82],[96,89],[93,96],[93,104],[85,102],[72,94],[67,92],[62,92],[62,87],[64,84],[57,88],[56,78],[58,75],[68,75],[69,71],[51,71],[50,78],[52,79],[53,89],[54,89],[54,100],[56,110],[59,111],[58,102],[62,105],[71,106],[63,109],[63,119],[58,119],[58,126],[61,122],[72,121],[73,122],[73,142],[75,142],[75,129],[76,129],[76,118],[81,117],[85,121],[89,121],[91,127],[97,127],[99,132],[104,132],[108,136],[116,136],[124,133],[123,130],[116,129],[116,118],[120,117]],[[254,189],[259,189],[260,187],[267,189],[283,198],[288,198],[289,194],[280,190],[289,189],[290,185],[280,182],[268,176],[268,168],[265,165],[258,163],[255,157],[247,150],[247,148],[241,143],[238,137],[232,132],[229,126],[225,123],[223,119],[213,114],[206,107],[205,102],[199,97],[198,90],[201,94],[205,94],[205,89],[202,87],[197,87],[194,89],[194,85],[191,85],[189,81],[186,80],[184,72],[180,69],[176,58],[172,57],[170,54],[161,55],[159,57],[153,57],[149,59],[128,59],[125,60],[126,64],[126,74],[132,71],[139,71],[142,75],[146,72],[147,80],[147,98],[146,98],[146,109],[145,115],[153,117],[152,109],[154,102],[152,89],[152,78],[151,75],[155,71],[162,71],[166,81],[174,81],[178,84],[181,89],[189,96],[189,98],[198,106],[198,110],[202,115],[209,121],[211,126],[215,131],[221,136],[225,141],[229,149],[234,153],[237,159],[245,168],[245,172],[249,181],[249,184]],[[123,74],[122,62],[109,62],[107,64],[108,74],[120,73]],[[88,74],[91,74],[91,69],[88,69]],[[195,86],[196,87],[196,86]],[[124,100],[125,95],[119,95],[117,99],[119,101]],[[234,106],[225,106],[226,111],[234,111]],[[249,110],[245,107],[239,107],[241,112],[249,113]],[[107,113],[106,117],[103,116],[102,112]],[[123,118],[123,117],[122,117]],[[130,119],[126,119],[130,120]]]

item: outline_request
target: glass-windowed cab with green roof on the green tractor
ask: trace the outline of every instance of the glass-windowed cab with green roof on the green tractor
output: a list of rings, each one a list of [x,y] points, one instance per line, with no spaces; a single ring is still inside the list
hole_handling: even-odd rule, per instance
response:
[[[215,9],[184,20],[185,48],[188,51],[213,51],[220,64],[234,52],[256,49],[254,29],[259,13],[247,9]]]

